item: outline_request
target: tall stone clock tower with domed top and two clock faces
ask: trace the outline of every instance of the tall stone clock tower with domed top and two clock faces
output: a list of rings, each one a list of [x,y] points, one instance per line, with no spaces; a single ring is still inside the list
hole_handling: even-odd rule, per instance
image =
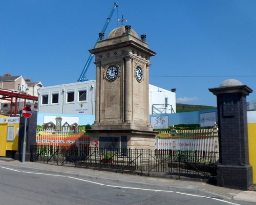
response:
[[[95,49],[96,106],[92,140],[104,148],[152,148],[148,70],[150,57],[146,35],[131,26],[114,29],[106,38],[100,33]]]

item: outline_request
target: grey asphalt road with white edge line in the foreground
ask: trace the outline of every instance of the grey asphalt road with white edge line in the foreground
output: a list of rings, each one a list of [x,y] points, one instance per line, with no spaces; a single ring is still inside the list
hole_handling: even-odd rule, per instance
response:
[[[145,184],[114,184],[108,179],[100,181],[82,177],[30,172],[0,167],[0,204],[12,205],[227,205],[255,203],[227,200],[164,190],[160,186]]]

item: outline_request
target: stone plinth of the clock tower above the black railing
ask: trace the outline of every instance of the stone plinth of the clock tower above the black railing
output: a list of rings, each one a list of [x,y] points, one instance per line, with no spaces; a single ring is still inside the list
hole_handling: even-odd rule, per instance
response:
[[[105,149],[155,149],[158,132],[141,130],[88,130],[90,141],[96,140],[98,147]]]

